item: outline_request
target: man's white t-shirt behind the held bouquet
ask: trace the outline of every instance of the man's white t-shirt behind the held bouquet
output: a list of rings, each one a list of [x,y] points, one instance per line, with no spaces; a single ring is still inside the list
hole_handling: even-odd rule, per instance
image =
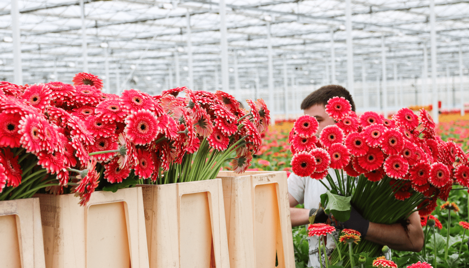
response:
[[[333,178],[334,181],[337,181],[335,171],[333,169],[329,169],[329,174]],[[325,185],[329,186],[329,182],[327,179],[322,179]],[[304,208],[311,209],[311,208],[318,208],[319,202],[321,201],[321,194],[325,194],[327,192],[326,187],[317,179],[311,179],[310,177],[300,177],[295,173],[291,173],[287,179],[288,182],[288,193],[295,198],[296,201],[300,204],[304,204]],[[306,225],[308,228],[308,225]],[[337,240],[339,237],[339,232],[333,232],[334,238]],[[313,268],[320,268],[319,264],[319,255],[318,255],[318,247],[319,241],[317,236],[308,237],[308,243],[310,245],[310,260],[308,262],[308,267]],[[326,251],[327,254],[331,254],[335,248],[335,243],[330,234],[327,235],[326,238]],[[321,255],[322,255],[322,262],[323,267],[325,267],[325,258],[324,252],[321,248]]]

